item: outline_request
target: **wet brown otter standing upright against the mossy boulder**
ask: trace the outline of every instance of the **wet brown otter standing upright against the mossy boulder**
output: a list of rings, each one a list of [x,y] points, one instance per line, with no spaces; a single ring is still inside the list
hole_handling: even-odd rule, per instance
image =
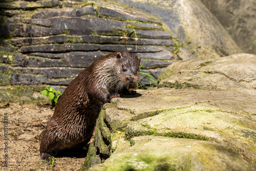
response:
[[[59,151],[86,145],[101,106],[122,94],[136,94],[140,61],[135,54],[114,52],[96,59],[78,74],[60,96],[39,136],[41,159],[50,161]]]

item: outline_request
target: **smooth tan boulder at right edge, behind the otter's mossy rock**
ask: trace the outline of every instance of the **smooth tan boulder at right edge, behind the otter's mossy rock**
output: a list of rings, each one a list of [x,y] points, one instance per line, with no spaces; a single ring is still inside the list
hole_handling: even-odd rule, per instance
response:
[[[166,78],[166,79],[164,79]],[[256,56],[237,54],[218,59],[174,63],[159,78],[159,86],[208,90],[256,89]]]

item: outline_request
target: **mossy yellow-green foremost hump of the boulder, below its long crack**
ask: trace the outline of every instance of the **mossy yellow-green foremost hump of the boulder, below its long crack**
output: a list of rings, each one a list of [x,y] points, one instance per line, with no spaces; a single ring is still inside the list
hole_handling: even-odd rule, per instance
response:
[[[161,136],[141,136],[132,138],[131,142],[132,147],[89,170],[250,170],[255,168],[240,154],[233,153],[231,148],[219,143],[200,140],[183,141]]]

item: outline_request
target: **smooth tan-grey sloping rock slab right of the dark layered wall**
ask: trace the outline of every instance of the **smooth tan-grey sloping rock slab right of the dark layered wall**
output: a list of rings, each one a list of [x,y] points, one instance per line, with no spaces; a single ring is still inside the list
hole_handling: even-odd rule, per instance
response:
[[[201,58],[242,53],[219,21],[199,0],[118,2],[157,17],[175,38],[179,38],[191,52]]]

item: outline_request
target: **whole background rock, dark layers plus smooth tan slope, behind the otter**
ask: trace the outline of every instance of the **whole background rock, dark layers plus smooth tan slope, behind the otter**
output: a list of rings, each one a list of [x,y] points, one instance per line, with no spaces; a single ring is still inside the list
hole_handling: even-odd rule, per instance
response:
[[[5,1],[0,5],[3,100],[34,99],[29,90],[47,85],[63,91],[93,60],[114,51],[127,50],[146,60],[142,71],[156,79],[177,60],[241,52],[198,0]],[[142,82],[149,83],[145,78]]]

